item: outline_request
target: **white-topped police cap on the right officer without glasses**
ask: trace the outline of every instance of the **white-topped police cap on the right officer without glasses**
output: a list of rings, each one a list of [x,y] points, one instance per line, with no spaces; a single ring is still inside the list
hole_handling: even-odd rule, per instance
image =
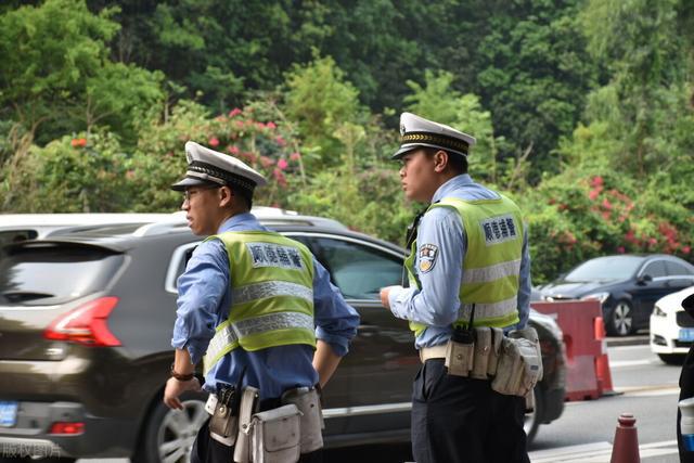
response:
[[[467,156],[470,147],[475,142],[474,137],[452,127],[412,113],[402,113],[400,115],[400,149],[393,155],[393,159],[399,159],[406,153],[420,146],[438,147]]]

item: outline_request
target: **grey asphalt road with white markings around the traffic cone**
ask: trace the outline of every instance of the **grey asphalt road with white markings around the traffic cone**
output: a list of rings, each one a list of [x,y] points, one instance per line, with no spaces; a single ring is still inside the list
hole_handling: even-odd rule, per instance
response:
[[[532,463],[608,463],[617,417],[637,419],[641,461],[679,461],[676,414],[679,366],[666,365],[651,353],[647,337],[608,339],[615,396],[567,402],[563,415],[542,426],[530,447]],[[627,345],[624,345],[627,344]],[[365,446],[325,451],[331,463],[401,463],[412,461],[409,445]],[[80,460],[79,463],[128,463],[126,459]]]

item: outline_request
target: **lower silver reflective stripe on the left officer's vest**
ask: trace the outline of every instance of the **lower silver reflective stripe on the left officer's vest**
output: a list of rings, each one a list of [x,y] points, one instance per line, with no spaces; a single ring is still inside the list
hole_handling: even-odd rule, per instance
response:
[[[205,358],[215,359],[227,346],[245,336],[292,327],[313,331],[313,317],[298,312],[279,312],[230,323],[215,334]]]

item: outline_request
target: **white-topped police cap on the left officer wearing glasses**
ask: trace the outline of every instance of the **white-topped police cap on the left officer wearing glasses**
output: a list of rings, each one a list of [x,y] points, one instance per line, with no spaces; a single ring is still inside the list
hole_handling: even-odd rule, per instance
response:
[[[183,191],[196,185],[229,185],[253,196],[256,187],[262,187],[267,180],[262,175],[235,157],[219,153],[195,142],[185,143],[188,170],[185,178],[171,185],[171,190]]]

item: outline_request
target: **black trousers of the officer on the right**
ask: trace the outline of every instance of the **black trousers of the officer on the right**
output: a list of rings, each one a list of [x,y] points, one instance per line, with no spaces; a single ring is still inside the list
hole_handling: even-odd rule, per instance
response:
[[[524,415],[523,397],[427,360],[414,380],[412,454],[416,463],[529,463]]]

